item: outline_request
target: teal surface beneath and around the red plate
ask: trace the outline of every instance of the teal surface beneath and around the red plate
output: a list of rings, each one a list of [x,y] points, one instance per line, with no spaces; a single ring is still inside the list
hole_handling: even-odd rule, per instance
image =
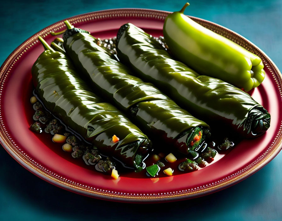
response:
[[[68,17],[110,8],[178,11],[185,1],[6,1],[0,3],[0,64],[23,41]],[[185,14],[243,35],[282,69],[282,1],[190,1]],[[80,196],[25,170],[0,148],[0,220],[282,220],[282,154],[246,180],[211,195],[165,204]]]

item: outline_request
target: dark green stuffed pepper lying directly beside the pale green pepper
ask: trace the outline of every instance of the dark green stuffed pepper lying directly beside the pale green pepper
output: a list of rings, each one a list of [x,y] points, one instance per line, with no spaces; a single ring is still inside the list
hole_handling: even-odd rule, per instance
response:
[[[228,126],[242,137],[256,137],[270,126],[270,115],[251,96],[222,80],[198,75],[133,24],[121,26],[117,55],[138,77],[155,84],[179,106],[209,125]],[[225,131],[225,129],[223,130]]]

